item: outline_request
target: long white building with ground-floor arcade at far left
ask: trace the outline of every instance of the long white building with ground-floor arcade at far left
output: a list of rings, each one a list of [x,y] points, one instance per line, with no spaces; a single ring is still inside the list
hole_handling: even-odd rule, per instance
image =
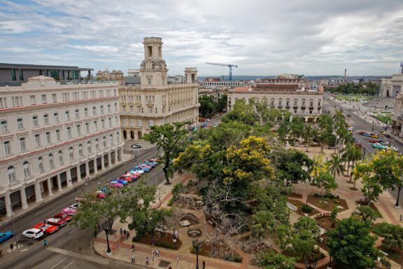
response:
[[[36,76],[0,88],[0,210],[45,195],[122,158],[117,83],[61,85]]]

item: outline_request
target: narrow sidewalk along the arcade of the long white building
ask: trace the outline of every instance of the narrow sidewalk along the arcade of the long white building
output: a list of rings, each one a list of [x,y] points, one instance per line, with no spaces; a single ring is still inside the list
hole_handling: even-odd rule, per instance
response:
[[[122,160],[119,163],[114,163],[110,169],[104,170],[104,171],[98,170],[97,174],[94,174],[94,173],[90,174],[90,181],[97,179],[98,177],[101,177],[104,174],[108,174],[108,171],[113,170],[115,167],[119,167],[120,165],[124,165],[125,162],[127,162],[127,160],[131,160],[131,159],[132,159],[131,155],[123,154]],[[22,208],[13,209],[13,218],[17,219],[20,216],[23,216],[24,214],[27,214],[27,213],[33,211],[34,209],[36,209],[36,207],[41,207],[42,205],[44,205],[52,200],[55,200],[56,198],[59,198],[60,196],[70,193],[75,188],[80,188],[81,186],[85,186],[85,184],[87,184],[87,183],[88,183],[88,181],[85,181],[85,179],[83,178],[83,180],[80,182],[78,182],[78,181],[73,182],[72,186],[64,186],[62,192],[54,191],[52,196],[49,196],[49,195],[43,196],[42,197],[43,200],[41,202],[30,202],[27,209],[22,209]],[[12,220],[11,216],[1,216],[0,227],[10,223],[11,220]]]

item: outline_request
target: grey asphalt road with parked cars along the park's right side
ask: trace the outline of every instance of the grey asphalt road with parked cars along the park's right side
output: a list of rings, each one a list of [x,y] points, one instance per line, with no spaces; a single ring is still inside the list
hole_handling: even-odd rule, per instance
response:
[[[327,102],[327,103],[326,103]],[[359,116],[356,116],[350,109],[345,109],[343,106],[341,106],[337,102],[333,102],[331,100],[326,100],[325,102],[325,109],[327,111],[334,111],[334,109],[342,109],[344,111],[344,114],[350,114],[351,115],[351,125],[354,127],[354,130],[368,130],[372,131],[372,128],[374,128],[374,132],[381,132],[382,127],[381,126],[374,126],[371,123],[368,123],[366,120],[363,120]],[[348,120],[348,119],[347,119]],[[356,137],[360,142],[362,142],[362,147],[365,150],[365,154],[367,155],[368,153],[374,153],[376,149],[372,148],[371,143],[368,142],[368,139],[365,137],[362,137],[361,135],[358,135],[356,132],[354,132],[354,137]],[[399,149],[399,152],[403,152],[403,147],[402,143],[396,142],[394,139],[388,139],[386,137],[381,137],[381,139],[386,140],[390,142],[390,144],[393,144],[393,146],[396,146],[397,149]],[[395,199],[397,199],[397,189],[395,191],[393,190],[388,190]],[[399,203],[403,207],[403,191],[400,192],[400,198],[399,198]],[[403,211],[403,210],[402,210]]]

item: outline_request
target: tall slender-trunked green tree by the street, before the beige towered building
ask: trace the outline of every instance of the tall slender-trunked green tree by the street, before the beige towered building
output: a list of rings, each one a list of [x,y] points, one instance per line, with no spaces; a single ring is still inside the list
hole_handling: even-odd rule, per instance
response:
[[[165,181],[171,184],[169,179],[174,175],[174,165],[172,160],[178,156],[178,148],[185,139],[188,131],[184,126],[187,123],[166,123],[164,125],[151,126],[151,132],[143,136],[143,139],[151,144],[157,144],[157,148],[164,151],[164,171]]]

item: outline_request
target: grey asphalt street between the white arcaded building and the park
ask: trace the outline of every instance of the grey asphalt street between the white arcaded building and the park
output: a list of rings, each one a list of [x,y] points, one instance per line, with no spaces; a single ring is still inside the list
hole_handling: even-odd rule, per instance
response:
[[[144,160],[155,156],[156,149],[151,147],[139,151],[138,160]],[[43,221],[45,217],[51,216],[60,211],[63,207],[71,205],[75,202],[76,196],[79,193],[95,191],[102,184],[105,184],[108,179],[118,177],[120,174],[134,167],[134,160],[115,167],[99,179],[90,181],[89,184],[80,188],[77,192],[71,191],[62,195],[49,203],[38,207],[33,211],[15,220],[17,234],[20,235],[23,230],[31,228],[34,224]],[[154,174],[153,174],[154,173]],[[150,184],[159,184],[164,177],[162,170],[156,172],[151,171],[149,179]],[[151,181],[151,182],[150,182]],[[12,223],[8,223],[1,230],[13,230]],[[0,258],[0,268],[13,269],[71,269],[71,268],[88,268],[88,269],[104,269],[104,268],[143,268],[133,265],[115,262],[100,258],[94,254],[90,242],[92,241],[93,233],[90,231],[82,231],[78,228],[68,225],[57,231],[54,235],[47,237],[49,242],[48,249],[43,246],[43,240],[28,242],[22,244],[22,247],[13,251],[6,252],[11,240],[0,244],[0,249],[3,250],[3,258]]]

